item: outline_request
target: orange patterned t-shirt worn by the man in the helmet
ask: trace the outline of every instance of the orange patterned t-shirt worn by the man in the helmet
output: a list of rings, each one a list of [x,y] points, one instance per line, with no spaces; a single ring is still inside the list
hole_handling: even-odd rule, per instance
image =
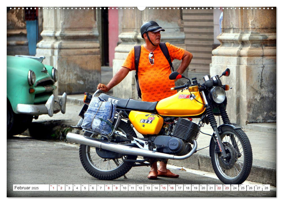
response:
[[[166,46],[168,48],[171,61],[174,59],[182,59],[185,52],[184,49],[178,48],[169,43],[166,43]],[[142,45],[140,61],[138,64],[138,80],[142,93],[142,101],[160,101],[161,99],[165,99],[177,93],[177,91],[170,90],[171,87],[175,87],[175,82],[174,80],[169,79],[171,68],[160,47],[158,46],[153,51],[153,65],[150,64],[148,57],[149,54],[150,52]],[[122,66],[129,68],[130,71],[136,70],[134,48],[131,49]]]

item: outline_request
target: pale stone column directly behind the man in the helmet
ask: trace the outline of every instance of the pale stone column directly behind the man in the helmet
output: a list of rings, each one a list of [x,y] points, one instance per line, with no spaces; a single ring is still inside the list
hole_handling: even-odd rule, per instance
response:
[[[140,35],[140,26],[146,21],[154,20],[165,29],[165,32],[161,32],[162,42],[169,42],[178,47],[186,48],[181,10],[177,8],[175,10],[146,8],[140,11],[135,7],[134,9],[121,10],[119,12],[123,16],[121,22],[122,33],[119,35],[122,43],[115,48],[113,75],[121,68],[131,48],[144,43],[144,39]],[[175,70],[177,70],[179,65],[180,61],[173,61]],[[131,71],[119,85],[113,88],[114,96],[138,99],[135,74],[135,71]],[[184,74],[187,74],[187,72]]]

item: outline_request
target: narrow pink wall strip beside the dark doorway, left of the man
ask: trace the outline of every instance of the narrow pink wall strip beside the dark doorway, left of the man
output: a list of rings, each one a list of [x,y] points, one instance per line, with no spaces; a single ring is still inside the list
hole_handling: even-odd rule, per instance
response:
[[[109,66],[113,67],[113,59],[115,57],[115,48],[119,41],[119,22],[118,10],[108,10],[108,35],[109,35]]]

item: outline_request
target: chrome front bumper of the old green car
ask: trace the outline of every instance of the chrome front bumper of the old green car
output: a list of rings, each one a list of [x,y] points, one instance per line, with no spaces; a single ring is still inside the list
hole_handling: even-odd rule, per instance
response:
[[[66,112],[66,99],[67,99],[66,93],[62,95],[59,101],[55,101],[55,97],[52,94],[45,104],[40,104],[40,105],[18,104],[17,112],[28,115],[48,114],[50,117],[52,117],[54,113],[57,113],[61,110],[61,112],[64,114]]]

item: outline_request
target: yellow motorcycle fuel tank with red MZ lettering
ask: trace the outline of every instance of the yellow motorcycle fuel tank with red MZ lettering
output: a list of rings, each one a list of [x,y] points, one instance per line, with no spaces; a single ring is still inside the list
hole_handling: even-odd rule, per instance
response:
[[[160,100],[157,103],[156,110],[159,115],[164,116],[195,116],[205,111],[204,104],[200,92],[190,93],[189,90],[183,90]]]

